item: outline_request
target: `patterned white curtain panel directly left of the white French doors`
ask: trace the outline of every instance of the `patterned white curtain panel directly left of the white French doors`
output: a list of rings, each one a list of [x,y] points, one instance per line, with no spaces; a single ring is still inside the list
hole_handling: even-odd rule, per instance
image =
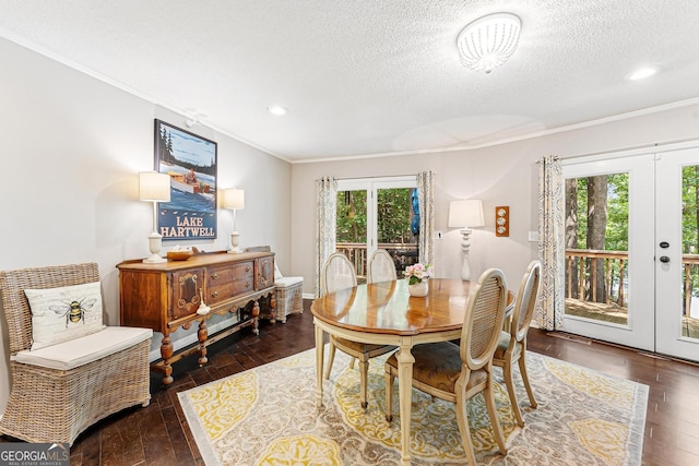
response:
[[[547,155],[538,160],[538,259],[542,288],[536,303],[541,328],[561,330],[565,312],[564,180],[560,160]]]

